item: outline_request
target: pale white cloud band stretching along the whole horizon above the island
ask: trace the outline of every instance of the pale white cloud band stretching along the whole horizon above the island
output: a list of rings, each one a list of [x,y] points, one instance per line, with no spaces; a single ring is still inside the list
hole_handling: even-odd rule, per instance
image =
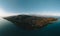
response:
[[[44,12],[22,12],[22,13],[13,13],[13,12],[7,12],[3,8],[0,7],[0,17],[7,17],[7,16],[13,16],[13,15],[19,15],[19,14],[26,14],[26,15],[38,15],[38,16],[60,16],[60,13],[52,12],[52,11],[44,11]]]

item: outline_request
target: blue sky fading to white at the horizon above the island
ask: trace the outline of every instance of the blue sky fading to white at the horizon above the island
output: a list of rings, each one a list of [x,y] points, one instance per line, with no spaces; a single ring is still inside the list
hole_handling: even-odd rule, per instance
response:
[[[22,13],[60,16],[60,0],[0,0],[0,16]]]

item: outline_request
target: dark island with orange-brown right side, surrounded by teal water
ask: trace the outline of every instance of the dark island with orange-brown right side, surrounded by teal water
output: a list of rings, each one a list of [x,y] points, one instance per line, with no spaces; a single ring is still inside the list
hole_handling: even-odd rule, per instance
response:
[[[4,17],[4,19],[11,21],[18,27],[23,29],[34,30],[40,29],[53,21],[56,21],[56,18],[47,18],[47,17],[38,17],[30,15],[17,15]]]

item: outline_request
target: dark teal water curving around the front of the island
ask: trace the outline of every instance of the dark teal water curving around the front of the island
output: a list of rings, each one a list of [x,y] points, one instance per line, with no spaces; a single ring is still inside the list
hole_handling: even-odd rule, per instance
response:
[[[39,30],[22,30],[13,23],[0,19],[0,36],[60,36],[60,19]]]

